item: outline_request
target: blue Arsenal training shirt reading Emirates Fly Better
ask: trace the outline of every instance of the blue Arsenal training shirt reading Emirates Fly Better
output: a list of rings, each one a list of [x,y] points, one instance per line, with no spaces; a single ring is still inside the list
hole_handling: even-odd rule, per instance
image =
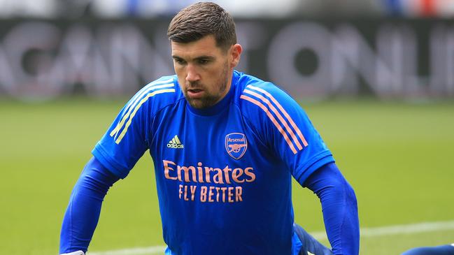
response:
[[[292,176],[304,183],[334,162],[295,100],[236,71],[227,96],[203,110],[176,75],[151,82],[92,153],[124,178],[146,150],[167,254],[291,254]]]

